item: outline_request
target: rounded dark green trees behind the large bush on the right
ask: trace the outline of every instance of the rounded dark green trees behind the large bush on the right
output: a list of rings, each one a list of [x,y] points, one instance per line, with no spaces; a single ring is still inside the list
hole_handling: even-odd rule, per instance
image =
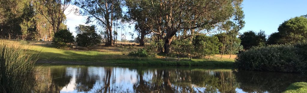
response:
[[[307,41],[307,16],[284,21],[277,31],[267,36],[263,30],[258,33],[250,30],[240,34],[239,38],[245,50],[255,46],[304,43]]]

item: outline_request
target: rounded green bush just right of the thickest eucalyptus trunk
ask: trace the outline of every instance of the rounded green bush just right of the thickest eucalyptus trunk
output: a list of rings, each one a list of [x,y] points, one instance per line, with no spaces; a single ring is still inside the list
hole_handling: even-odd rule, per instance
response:
[[[175,40],[172,42],[171,46],[171,54],[174,57],[180,56],[180,57],[187,57],[188,55],[191,55],[193,53],[193,45],[192,43],[185,39],[185,40]]]

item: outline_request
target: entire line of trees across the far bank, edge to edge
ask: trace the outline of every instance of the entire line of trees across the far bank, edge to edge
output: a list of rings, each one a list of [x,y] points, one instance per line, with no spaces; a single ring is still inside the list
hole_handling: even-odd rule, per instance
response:
[[[222,57],[254,46],[306,41],[306,16],[285,21],[269,38],[264,31],[239,34],[245,24],[242,0],[2,0],[0,5],[1,38],[65,41],[54,42],[57,47],[112,46],[127,23],[135,24],[134,41],[140,46],[174,55]],[[68,10],[69,5],[78,8]],[[64,25],[64,11],[95,25],[77,26],[75,38]]]

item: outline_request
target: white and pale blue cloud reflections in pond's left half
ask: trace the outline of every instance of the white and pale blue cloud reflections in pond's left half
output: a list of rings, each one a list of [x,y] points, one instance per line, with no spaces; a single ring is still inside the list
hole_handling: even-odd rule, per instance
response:
[[[89,78],[93,78],[96,79],[95,83],[93,84],[93,88],[90,91],[87,91],[89,93],[95,93],[98,92],[99,90],[101,90],[105,83],[107,81],[104,81],[106,79],[106,74],[105,74],[105,68],[104,67],[87,67],[87,76],[86,78],[81,78],[78,77],[78,74],[81,73],[83,69],[79,68],[79,67],[67,67],[66,70],[66,75],[67,76],[71,76],[72,79],[70,80],[69,84],[67,84],[67,86],[65,86],[60,92],[63,93],[84,93],[84,91],[77,91],[77,86],[81,86],[81,83],[76,83],[77,79],[86,79],[86,81],[89,80]],[[112,72],[111,72],[111,78],[110,78],[110,87],[111,87],[111,91],[113,89],[117,90],[117,91],[133,91],[133,83],[135,83],[138,78],[137,76],[137,72],[136,71],[129,71],[129,69],[127,68],[113,68]],[[98,77],[98,78],[95,78]],[[83,84],[83,85],[87,85],[87,84]],[[114,86],[112,88],[112,86]],[[78,87],[79,88],[79,87]]]

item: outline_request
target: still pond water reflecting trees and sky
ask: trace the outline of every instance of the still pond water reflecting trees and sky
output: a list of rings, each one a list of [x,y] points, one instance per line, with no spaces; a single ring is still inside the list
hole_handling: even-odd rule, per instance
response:
[[[41,66],[40,92],[280,93],[306,75],[191,67]]]

